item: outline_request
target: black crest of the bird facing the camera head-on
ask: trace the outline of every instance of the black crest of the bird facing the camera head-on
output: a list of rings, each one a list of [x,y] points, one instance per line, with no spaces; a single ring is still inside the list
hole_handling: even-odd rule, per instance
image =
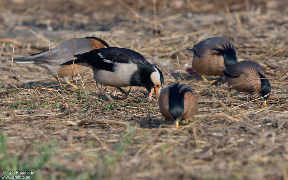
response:
[[[184,84],[177,83],[169,87],[169,111],[174,120],[181,117],[184,113],[184,94],[189,91],[192,92]]]

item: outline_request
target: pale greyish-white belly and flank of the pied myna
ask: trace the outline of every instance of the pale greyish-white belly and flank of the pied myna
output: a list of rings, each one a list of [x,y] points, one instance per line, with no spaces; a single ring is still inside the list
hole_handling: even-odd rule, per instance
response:
[[[95,81],[104,86],[112,86],[116,88],[130,86],[130,78],[137,70],[137,65],[118,63],[114,67],[114,70],[115,71],[105,71],[103,69],[95,69]]]

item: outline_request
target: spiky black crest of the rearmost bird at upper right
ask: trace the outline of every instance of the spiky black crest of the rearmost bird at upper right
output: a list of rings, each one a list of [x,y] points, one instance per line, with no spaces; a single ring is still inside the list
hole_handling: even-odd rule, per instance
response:
[[[237,63],[236,51],[232,44],[230,43],[221,44],[221,47],[214,47],[212,49],[216,51],[213,54],[223,56],[226,68],[229,67],[230,65]]]

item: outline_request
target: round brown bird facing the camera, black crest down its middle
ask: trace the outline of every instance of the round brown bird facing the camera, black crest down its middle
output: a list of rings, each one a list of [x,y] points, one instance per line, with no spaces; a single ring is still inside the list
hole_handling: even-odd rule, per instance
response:
[[[184,84],[173,84],[165,88],[159,97],[159,110],[169,121],[175,121],[178,129],[181,120],[197,114],[198,102],[192,89]]]

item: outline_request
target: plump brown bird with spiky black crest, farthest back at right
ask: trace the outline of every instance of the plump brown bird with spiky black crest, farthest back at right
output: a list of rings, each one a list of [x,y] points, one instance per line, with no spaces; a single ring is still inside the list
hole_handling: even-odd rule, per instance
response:
[[[208,38],[188,50],[193,51],[194,55],[192,68],[187,68],[186,71],[194,74],[195,70],[204,81],[207,79],[203,75],[223,76],[222,70],[237,63],[236,49],[225,38]]]

